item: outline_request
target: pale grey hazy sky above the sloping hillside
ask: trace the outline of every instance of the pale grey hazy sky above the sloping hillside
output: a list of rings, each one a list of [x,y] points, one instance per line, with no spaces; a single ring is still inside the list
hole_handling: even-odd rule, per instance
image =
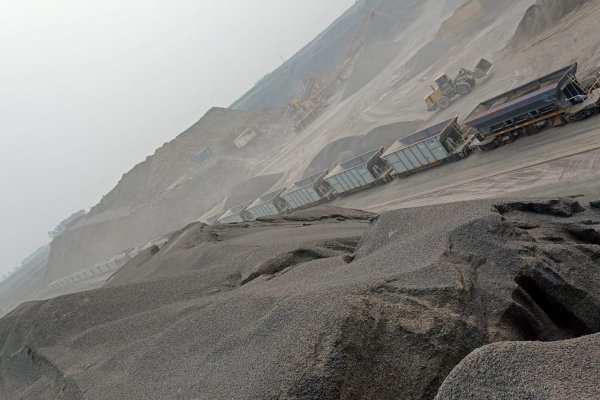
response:
[[[0,276],[354,0],[1,0]]]

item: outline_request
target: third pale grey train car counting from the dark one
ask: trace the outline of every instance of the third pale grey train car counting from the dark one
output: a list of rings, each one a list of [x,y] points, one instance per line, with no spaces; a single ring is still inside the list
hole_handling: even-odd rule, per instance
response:
[[[324,181],[327,172],[324,170],[303,178],[281,193],[287,211],[310,207],[326,200],[332,192],[331,186]]]

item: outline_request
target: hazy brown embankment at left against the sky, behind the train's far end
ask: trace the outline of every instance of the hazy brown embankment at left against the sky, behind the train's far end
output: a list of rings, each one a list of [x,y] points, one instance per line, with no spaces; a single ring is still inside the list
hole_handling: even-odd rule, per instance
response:
[[[233,139],[250,127],[259,136],[238,150]],[[252,179],[256,166],[277,151],[287,134],[272,112],[210,110],[126,173],[88,215],[53,241],[47,282],[92,267],[200,217],[231,196],[237,185]],[[206,147],[213,156],[196,161],[196,154]]]

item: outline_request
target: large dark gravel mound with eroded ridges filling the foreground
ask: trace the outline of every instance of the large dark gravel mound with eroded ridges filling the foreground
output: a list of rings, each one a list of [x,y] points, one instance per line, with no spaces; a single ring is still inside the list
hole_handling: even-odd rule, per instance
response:
[[[600,251],[573,234],[597,211],[529,202],[192,224],[116,286],[0,320],[0,396],[432,399],[478,347],[600,331]]]

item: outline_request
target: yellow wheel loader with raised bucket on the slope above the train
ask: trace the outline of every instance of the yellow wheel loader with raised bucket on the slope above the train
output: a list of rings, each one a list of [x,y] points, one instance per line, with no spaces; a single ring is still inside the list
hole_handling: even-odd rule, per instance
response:
[[[494,64],[482,58],[473,71],[461,68],[454,79],[446,73],[435,79],[435,86],[431,86],[431,93],[425,97],[427,111],[444,110],[450,107],[452,99],[456,96],[468,96],[477,80],[489,75]]]

